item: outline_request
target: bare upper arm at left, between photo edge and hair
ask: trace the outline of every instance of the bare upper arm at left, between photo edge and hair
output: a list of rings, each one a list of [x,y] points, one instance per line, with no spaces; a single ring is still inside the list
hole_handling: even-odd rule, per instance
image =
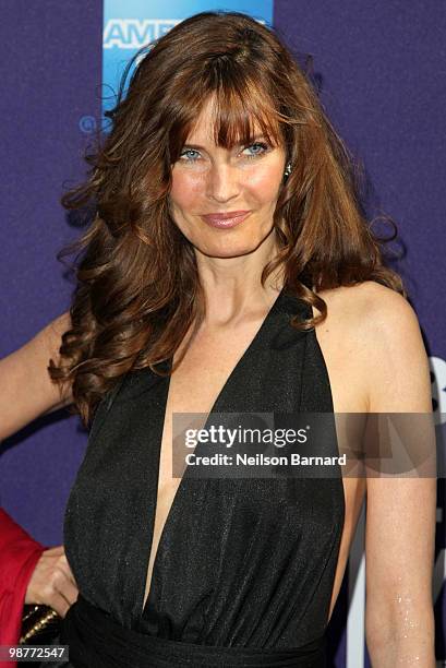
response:
[[[71,387],[60,394],[49,377],[52,358],[59,361],[61,337],[71,329],[65,311],[17,350],[0,359],[0,441],[39,417],[72,403]]]

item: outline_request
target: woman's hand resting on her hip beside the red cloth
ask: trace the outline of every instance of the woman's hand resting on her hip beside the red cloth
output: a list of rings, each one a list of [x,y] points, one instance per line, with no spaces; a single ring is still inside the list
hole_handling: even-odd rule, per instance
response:
[[[50,606],[60,617],[65,617],[77,595],[63,545],[45,550],[29,578],[25,604]]]

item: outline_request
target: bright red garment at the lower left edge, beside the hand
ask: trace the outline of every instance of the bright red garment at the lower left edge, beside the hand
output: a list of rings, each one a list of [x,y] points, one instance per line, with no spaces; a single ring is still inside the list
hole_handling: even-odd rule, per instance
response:
[[[0,508],[0,645],[17,645],[29,578],[44,550]],[[16,661],[0,661],[16,668]]]

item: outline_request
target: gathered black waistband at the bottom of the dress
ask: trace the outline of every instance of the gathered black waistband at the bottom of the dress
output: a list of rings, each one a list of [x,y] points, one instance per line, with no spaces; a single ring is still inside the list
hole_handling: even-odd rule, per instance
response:
[[[125,629],[81,594],[67,612],[61,642],[74,668],[325,668],[325,635],[301,647],[263,649],[183,643]]]

